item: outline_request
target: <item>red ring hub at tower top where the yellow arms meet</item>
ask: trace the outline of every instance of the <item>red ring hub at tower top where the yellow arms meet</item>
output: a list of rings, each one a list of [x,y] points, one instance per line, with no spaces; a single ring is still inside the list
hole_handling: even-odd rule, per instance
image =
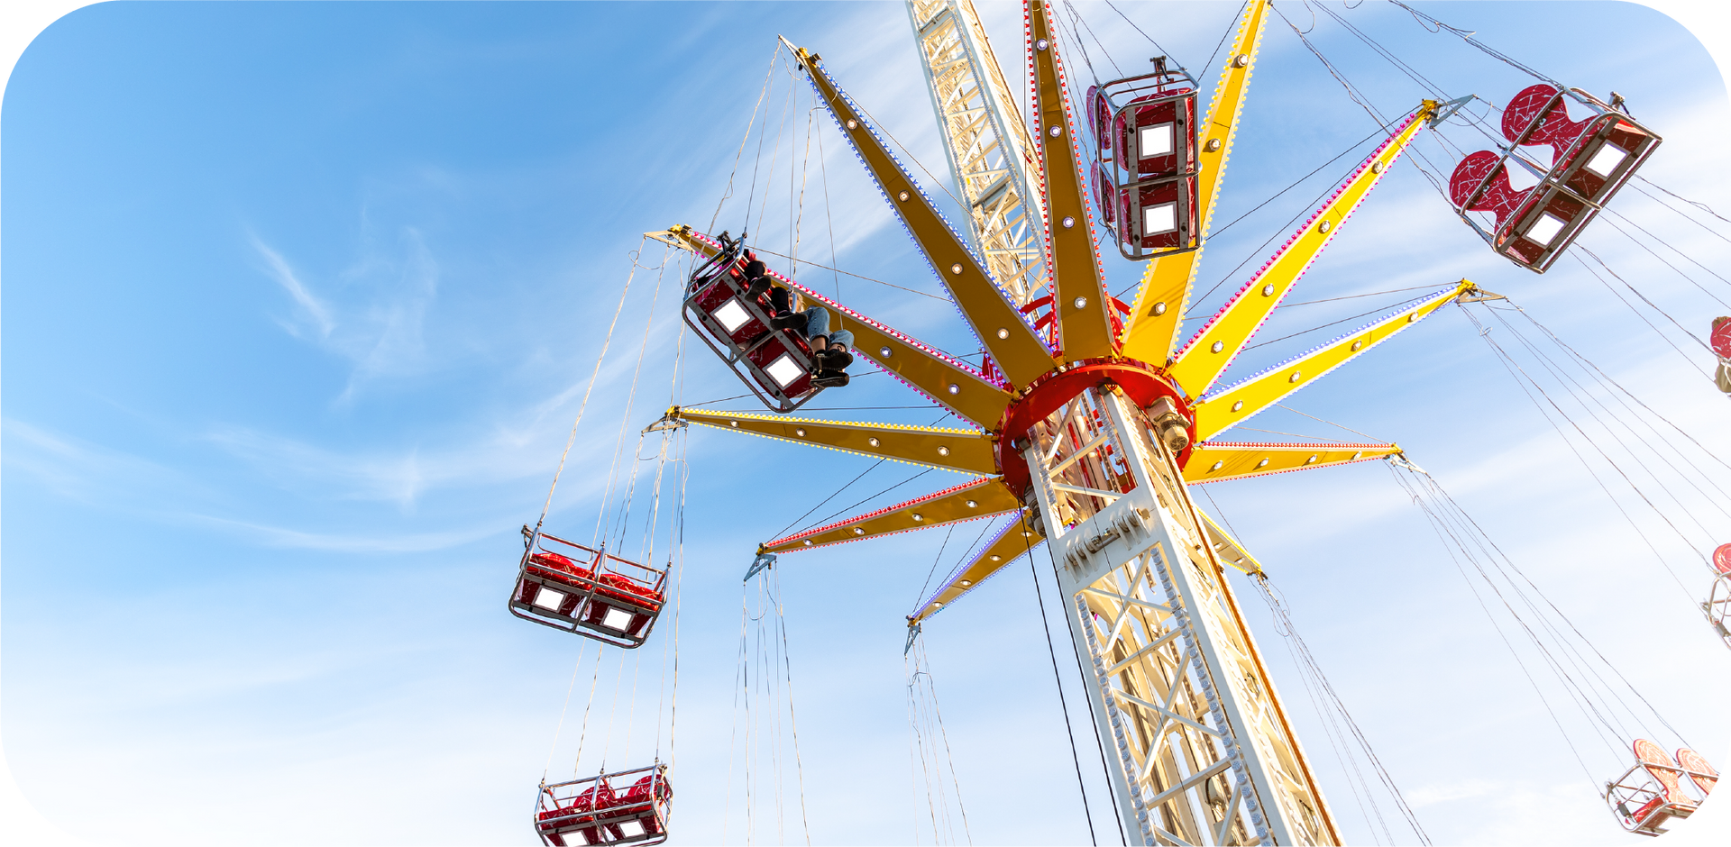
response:
[[[1184,415],[1191,422],[1191,444],[1196,444],[1196,415],[1191,411],[1184,392],[1167,377],[1165,370],[1136,360],[1073,361],[1028,384],[1021,392],[1021,399],[1011,403],[1004,410],[1004,418],[999,420],[997,467],[1004,470],[1004,484],[1009,486],[1018,500],[1026,500],[1032,479],[1028,477],[1026,460],[1023,460],[1013,444],[1028,437],[1028,429],[1033,424],[1046,420],[1084,391],[1108,384],[1123,389],[1125,398],[1136,408],[1148,408],[1160,398],[1168,398],[1179,415]],[[1191,449],[1187,446],[1179,453],[1181,468],[1189,462]]]

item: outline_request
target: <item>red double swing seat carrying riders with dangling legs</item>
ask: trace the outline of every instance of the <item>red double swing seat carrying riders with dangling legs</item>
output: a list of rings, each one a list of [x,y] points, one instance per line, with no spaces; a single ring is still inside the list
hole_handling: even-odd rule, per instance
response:
[[[769,296],[746,296],[741,242],[722,233],[722,252],[699,264],[685,287],[685,323],[765,406],[793,411],[824,389],[812,385],[812,347],[791,330],[770,328]]]

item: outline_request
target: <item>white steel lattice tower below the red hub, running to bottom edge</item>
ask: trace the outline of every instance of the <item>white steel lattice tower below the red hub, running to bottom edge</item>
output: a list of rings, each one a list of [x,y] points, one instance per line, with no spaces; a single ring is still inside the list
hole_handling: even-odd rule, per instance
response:
[[[1091,389],[1028,434],[1023,458],[1132,844],[1340,847],[1146,415]]]

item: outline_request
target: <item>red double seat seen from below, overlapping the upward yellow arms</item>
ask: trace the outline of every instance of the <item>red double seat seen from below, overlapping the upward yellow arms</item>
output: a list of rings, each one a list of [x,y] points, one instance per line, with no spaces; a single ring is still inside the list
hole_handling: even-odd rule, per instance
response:
[[[1196,81],[1155,59],[1155,73],[1089,88],[1097,142],[1094,204],[1125,259],[1201,245],[1196,207]]]

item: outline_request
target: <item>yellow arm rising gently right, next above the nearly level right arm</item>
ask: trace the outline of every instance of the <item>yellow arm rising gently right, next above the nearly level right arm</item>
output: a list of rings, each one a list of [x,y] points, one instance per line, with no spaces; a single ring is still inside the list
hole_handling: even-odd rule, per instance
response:
[[[1196,439],[1208,441],[1227,427],[1243,424],[1252,415],[1279,403],[1288,394],[1316,382],[1317,377],[1352,361],[1364,351],[1388,341],[1397,332],[1418,323],[1426,315],[1452,302],[1456,297],[1478,290],[1468,280],[1461,280],[1452,289],[1444,289],[1425,297],[1416,306],[1407,306],[1376,323],[1371,323],[1350,335],[1317,347],[1303,356],[1276,365],[1255,377],[1231,385],[1219,394],[1196,403]],[[1196,460],[1191,460],[1194,465]]]

